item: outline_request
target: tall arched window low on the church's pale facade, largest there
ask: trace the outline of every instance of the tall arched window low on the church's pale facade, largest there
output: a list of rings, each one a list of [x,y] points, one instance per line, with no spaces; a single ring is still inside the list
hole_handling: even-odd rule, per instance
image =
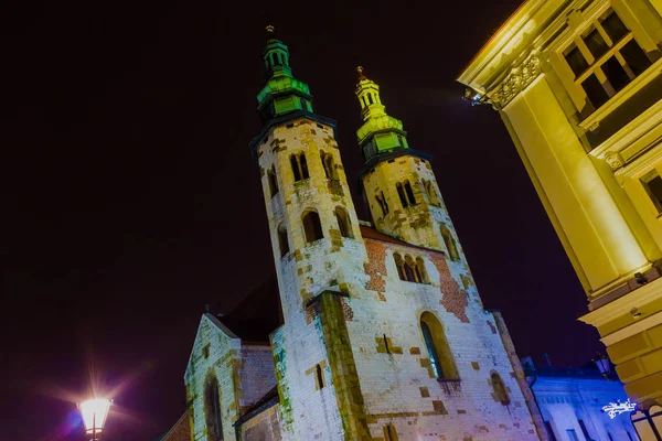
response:
[[[426,311],[420,315],[420,332],[435,378],[458,378],[458,370],[441,322],[433,313]]]

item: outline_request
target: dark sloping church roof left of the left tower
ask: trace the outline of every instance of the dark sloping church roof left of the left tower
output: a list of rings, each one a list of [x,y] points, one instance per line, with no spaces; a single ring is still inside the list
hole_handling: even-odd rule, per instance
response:
[[[218,320],[245,342],[269,343],[269,334],[282,324],[276,273]]]

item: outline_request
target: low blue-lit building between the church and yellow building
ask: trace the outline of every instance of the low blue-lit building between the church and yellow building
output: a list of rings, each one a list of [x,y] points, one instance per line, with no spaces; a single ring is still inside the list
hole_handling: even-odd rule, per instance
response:
[[[639,440],[622,383],[596,368],[524,367],[551,441]],[[602,410],[609,405],[613,418]]]

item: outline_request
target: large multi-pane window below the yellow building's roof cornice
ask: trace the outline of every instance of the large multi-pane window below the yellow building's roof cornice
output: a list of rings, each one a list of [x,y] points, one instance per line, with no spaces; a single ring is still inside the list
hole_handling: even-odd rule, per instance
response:
[[[565,60],[575,73],[594,109],[597,109],[652,63],[632,32],[609,9],[565,51]]]

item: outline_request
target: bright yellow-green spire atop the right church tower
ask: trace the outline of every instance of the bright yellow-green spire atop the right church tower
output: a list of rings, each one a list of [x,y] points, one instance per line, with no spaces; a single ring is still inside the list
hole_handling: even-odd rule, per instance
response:
[[[391,152],[396,149],[407,149],[407,132],[403,130],[399,119],[389,117],[380,98],[380,86],[369,79],[363,73],[363,67],[356,67],[359,84],[356,97],[361,104],[363,126],[356,131],[359,144],[365,160],[380,153]]]

